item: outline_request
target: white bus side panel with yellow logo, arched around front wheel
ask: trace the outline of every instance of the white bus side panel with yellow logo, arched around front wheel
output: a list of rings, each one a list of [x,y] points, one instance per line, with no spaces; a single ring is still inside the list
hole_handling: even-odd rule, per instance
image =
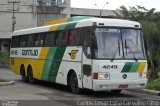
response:
[[[69,46],[66,48],[57,73],[56,83],[67,85],[69,71],[74,71],[78,85],[82,88],[82,47]]]

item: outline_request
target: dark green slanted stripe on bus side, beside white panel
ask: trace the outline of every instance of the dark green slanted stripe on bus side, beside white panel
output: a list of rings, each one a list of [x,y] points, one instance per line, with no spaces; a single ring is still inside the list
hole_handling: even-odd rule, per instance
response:
[[[51,68],[49,70],[48,81],[56,81],[58,70],[62,62],[63,55],[65,53],[66,47],[57,47],[56,53],[53,57]]]

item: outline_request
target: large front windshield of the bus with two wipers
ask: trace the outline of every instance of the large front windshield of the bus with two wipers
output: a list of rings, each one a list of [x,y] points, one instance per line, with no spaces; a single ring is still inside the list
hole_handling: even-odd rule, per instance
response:
[[[140,29],[96,28],[93,41],[96,59],[145,59]]]

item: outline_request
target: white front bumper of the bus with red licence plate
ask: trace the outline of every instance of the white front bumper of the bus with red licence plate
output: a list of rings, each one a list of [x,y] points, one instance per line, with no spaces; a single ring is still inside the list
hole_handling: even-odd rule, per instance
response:
[[[110,81],[110,80],[93,80],[94,91],[118,90],[118,89],[143,89],[147,84],[147,79],[127,80],[127,81]]]

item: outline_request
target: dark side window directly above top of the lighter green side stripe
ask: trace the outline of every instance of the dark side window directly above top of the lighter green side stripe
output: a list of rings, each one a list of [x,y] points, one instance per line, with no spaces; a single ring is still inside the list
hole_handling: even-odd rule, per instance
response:
[[[49,32],[46,34],[45,46],[54,46],[56,44],[56,32]]]

